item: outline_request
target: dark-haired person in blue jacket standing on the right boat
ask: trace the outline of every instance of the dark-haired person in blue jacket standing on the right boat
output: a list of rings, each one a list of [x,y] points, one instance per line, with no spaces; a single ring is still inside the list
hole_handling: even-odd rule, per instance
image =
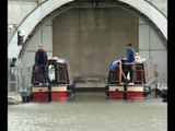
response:
[[[132,62],[135,61],[135,49],[132,48],[131,44],[127,45],[127,59],[126,59],[126,63],[125,63],[125,75],[127,78],[128,72],[130,74],[130,81],[129,83],[133,84],[133,71],[132,71]]]

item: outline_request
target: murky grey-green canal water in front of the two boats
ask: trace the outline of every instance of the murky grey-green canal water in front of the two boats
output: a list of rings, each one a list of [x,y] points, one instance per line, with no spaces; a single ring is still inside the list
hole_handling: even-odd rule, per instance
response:
[[[9,105],[8,131],[167,131],[167,103],[75,93],[66,102]]]

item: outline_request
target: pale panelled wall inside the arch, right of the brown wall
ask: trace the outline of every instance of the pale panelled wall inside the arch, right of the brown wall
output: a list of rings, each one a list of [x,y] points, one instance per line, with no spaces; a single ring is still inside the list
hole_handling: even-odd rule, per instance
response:
[[[139,52],[141,57],[152,59],[159,72],[158,80],[167,82],[167,47],[156,32],[141,17],[139,19]]]

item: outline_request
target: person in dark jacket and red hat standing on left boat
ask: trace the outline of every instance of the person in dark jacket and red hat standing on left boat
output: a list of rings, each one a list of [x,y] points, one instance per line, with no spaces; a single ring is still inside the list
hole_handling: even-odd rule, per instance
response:
[[[39,85],[42,85],[43,79],[45,79],[45,83],[48,85],[47,62],[47,52],[44,50],[43,45],[39,45],[35,53],[35,70],[38,72],[37,79]]]

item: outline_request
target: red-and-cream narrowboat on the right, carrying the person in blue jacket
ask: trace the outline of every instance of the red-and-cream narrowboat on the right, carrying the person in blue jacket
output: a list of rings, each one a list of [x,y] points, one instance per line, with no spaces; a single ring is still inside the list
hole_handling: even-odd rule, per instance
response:
[[[143,59],[132,62],[133,82],[129,83],[129,75],[125,75],[126,60],[121,59],[115,70],[108,71],[105,93],[107,98],[145,98],[155,92],[155,67],[152,60]]]

